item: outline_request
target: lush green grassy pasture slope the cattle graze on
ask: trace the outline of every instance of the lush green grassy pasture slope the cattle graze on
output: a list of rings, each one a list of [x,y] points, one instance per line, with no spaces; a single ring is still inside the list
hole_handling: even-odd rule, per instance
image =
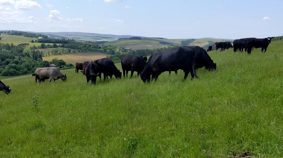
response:
[[[0,157],[283,157],[282,43],[210,51],[217,70],[184,82],[180,70],[147,84],[135,73],[87,85],[75,69],[66,82],[2,80]]]

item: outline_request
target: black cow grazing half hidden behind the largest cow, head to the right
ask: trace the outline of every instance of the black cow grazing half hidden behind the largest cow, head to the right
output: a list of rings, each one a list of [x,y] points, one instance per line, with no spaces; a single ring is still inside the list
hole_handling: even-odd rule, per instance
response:
[[[211,60],[205,49],[199,46],[194,46],[192,48],[195,49],[195,68],[205,67],[208,71],[216,69],[216,63]]]

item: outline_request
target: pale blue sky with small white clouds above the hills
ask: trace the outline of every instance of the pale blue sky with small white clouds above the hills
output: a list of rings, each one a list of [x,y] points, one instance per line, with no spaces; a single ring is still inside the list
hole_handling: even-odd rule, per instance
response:
[[[282,0],[0,0],[0,30],[168,39],[283,35]]]

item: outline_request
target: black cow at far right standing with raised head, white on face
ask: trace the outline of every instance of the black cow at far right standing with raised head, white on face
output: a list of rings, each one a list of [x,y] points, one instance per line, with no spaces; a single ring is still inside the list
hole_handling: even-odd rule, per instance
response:
[[[263,52],[263,49],[264,49],[264,53],[265,53],[268,45],[271,43],[272,38],[273,37],[249,38],[248,40],[246,40],[246,48],[247,48],[248,54],[251,54],[253,47],[261,48],[261,52]]]

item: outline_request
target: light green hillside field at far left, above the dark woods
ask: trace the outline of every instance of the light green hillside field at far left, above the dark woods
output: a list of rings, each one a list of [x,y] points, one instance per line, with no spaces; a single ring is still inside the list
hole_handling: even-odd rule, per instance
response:
[[[0,35],[2,37],[2,40],[0,40],[0,43],[13,43],[14,45],[19,45],[22,43],[28,43],[29,46],[39,46],[41,43],[31,43],[29,41],[31,40],[37,40],[37,38],[32,37],[24,37],[24,36],[16,36],[16,35]],[[53,44],[53,43],[45,43],[45,44]]]

